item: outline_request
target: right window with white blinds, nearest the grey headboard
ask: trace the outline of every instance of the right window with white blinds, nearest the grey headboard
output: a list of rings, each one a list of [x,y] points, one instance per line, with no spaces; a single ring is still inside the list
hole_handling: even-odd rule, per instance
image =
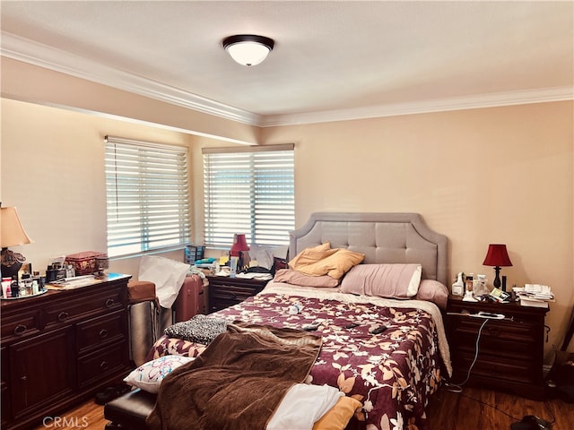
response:
[[[288,245],[295,226],[293,145],[204,148],[205,243]]]

